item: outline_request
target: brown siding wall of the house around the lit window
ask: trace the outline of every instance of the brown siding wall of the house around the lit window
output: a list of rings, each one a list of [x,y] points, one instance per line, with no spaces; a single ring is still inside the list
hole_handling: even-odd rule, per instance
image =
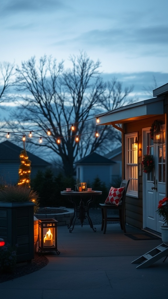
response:
[[[132,121],[124,124],[125,134],[138,132],[138,145],[142,149],[142,129],[151,127],[154,120],[159,120],[160,123],[165,124],[165,115],[156,115],[154,117],[149,117],[143,120]],[[125,160],[124,142],[122,142],[123,154]],[[143,153],[145,154],[145,153]],[[138,198],[126,196],[126,209],[125,209],[125,220],[129,225],[135,226],[137,228],[143,228],[143,173],[142,170],[142,151],[138,152]],[[124,170],[123,163],[123,172]],[[141,168],[141,171],[140,171]],[[125,173],[124,173],[125,176]]]

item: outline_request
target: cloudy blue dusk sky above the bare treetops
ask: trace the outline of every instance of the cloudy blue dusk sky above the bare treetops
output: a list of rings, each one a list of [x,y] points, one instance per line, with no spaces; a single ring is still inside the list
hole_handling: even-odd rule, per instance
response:
[[[85,51],[106,78],[140,95],[153,76],[158,86],[168,82],[167,12],[167,0],[1,0],[0,61],[46,54],[66,68]]]

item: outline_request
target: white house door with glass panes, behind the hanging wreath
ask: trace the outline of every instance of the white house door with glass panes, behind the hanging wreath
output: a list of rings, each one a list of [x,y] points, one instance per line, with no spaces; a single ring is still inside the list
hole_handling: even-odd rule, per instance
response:
[[[165,159],[166,146],[163,144],[154,144],[149,138],[149,129],[143,131],[143,155],[147,153],[147,147],[150,148],[150,155],[153,155],[155,167],[151,173],[143,173],[143,214],[144,228],[161,232],[160,226],[163,225],[162,218],[156,213],[159,200],[165,197]]]

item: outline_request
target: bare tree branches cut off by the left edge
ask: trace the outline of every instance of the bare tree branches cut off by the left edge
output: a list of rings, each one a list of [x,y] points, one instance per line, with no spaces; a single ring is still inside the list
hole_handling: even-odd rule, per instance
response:
[[[0,63],[0,103],[11,100],[8,95],[9,88],[13,86],[14,64]]]

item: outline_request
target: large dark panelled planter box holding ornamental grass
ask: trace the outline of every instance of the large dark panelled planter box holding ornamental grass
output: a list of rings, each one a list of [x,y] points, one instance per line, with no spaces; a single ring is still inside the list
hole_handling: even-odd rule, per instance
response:
[[[17,262],[34,258],[34,203],[0,202],[0,237],[17,248]]]

